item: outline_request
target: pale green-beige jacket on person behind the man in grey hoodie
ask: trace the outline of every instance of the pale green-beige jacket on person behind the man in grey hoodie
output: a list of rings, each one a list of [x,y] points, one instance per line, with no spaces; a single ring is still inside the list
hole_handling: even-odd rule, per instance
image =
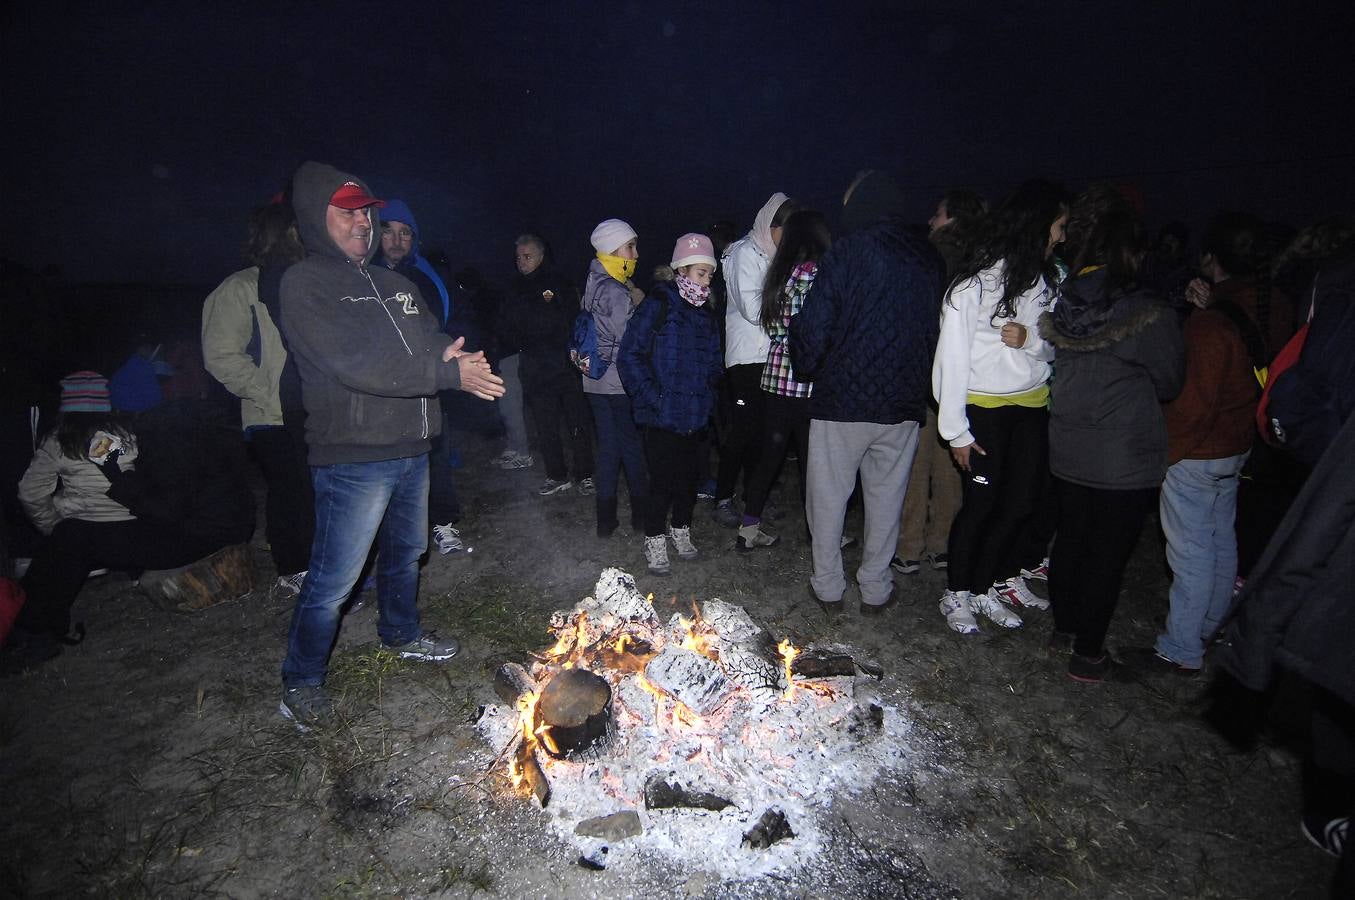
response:
[[[259,268],[243,268],[202,305],[202,359],[207,371],[240,397],[240,422],[251,426],[280,426],[282,403],[278,382],[287,351],[282,336],[259,302]]]

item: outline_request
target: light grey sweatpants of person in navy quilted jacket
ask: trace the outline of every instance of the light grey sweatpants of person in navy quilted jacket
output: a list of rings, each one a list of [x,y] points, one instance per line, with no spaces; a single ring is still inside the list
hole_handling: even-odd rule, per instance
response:
[[[917,423],[879,426],[871,422],[809,422],[809,465],[805,515],[814,538],[814,575],[810,584],[818,599],[843,598],[843,516],[856,487],[866,506],[856,584],[864,603],[879,605],[894,587],[889,560],[898,542],[898,512],[908,491],[908,472],[917,453]]]

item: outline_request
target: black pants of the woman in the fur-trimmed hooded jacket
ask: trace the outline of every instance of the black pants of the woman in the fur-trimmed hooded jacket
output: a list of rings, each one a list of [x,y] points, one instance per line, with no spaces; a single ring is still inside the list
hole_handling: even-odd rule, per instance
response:
[[[1075,634],[1073,652],[1100,656],[1138,534],[1156,488],[1106,491],[1054,478],[1058,535],[1049,560],[1054,630]]]

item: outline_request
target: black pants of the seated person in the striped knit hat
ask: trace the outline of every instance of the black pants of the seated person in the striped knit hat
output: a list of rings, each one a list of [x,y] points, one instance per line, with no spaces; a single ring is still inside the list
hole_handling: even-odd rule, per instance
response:
[[[30,632],[64,636],[70,630],[70,606],[89,569],[173,569],[215,553],[225,544],[186,534],[175,526],[65,519],[38,546],[23,590],[28,600],[15,625]]]

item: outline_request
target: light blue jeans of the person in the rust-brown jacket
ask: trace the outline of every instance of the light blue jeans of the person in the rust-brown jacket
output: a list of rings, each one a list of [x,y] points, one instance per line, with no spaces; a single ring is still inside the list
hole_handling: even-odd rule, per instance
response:
[[[1167,470],[1159,512],[1172,567],[1167,632],[1157,652],[1179,666],[1205,663],[1237,576],[1237,474],[1247,453],[1222,459],[1182,459]]]

